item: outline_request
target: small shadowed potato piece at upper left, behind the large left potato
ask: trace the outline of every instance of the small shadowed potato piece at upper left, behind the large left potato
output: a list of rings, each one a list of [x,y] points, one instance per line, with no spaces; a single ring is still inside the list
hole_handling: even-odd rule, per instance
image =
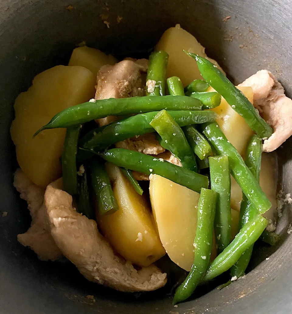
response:
[[[84,67],[96,76],[97,72],[103,65],[114,65],[115,63],[117,63],[117,59],[115,57],[106,55],[98,49],[84,46],[73,50],[68,65],[78,65]]]

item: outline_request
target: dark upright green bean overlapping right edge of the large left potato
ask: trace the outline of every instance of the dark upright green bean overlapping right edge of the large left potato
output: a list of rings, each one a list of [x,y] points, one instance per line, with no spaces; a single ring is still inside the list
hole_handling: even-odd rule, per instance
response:
[[[80,128],[80,125],[67,128],[62,154],[63,190],[70,195],[78,193],[76,154]]]

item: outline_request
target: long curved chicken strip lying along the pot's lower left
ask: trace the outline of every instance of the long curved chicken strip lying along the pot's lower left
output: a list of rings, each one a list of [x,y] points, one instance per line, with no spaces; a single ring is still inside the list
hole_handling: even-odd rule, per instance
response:
[[[156,266],[137,271],[116,256],[98,232],[96,222],[72,207],[68,193],[49,185],[44,201],[56,244],[88,280],[127,292],[156,290],[165,285],[166,274]]]

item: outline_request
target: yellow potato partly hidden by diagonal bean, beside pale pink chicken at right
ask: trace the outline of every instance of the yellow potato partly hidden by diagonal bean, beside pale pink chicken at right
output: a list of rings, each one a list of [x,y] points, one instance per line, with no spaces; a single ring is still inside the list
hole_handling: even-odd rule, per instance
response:
[[[251,87],[237,88],[242,91],[251,103],[253,103],[253,89]],[[212,88],[209,90],[214,91]],[[218,113],[219,117],[216,121],[229,142],[237,149],[239,154],[244,156],[249,138],[253,134],[252,129],[248,126],[243,117],[228,105],[223,97],[220,106],[211,110]]]

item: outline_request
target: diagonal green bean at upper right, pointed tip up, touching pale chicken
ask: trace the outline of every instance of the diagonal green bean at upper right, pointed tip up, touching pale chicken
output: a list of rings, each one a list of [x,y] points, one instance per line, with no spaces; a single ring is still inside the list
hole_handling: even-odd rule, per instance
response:
[[[213,63],[194,53],[187,51],[185,53],[196,60],[203,78],[225,98],[232,109],[244,118],[255,133],[261,138],[269,138],[272,135],[273,129],[261,118],[252,103]]]

